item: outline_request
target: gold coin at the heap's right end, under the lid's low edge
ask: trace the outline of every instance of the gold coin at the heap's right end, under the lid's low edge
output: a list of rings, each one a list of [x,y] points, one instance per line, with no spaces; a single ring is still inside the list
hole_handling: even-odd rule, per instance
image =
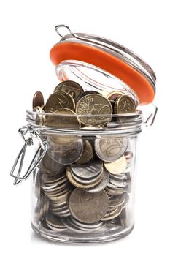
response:
[[[136,113],[134,100],[128,95],[123,95],[115,100],[115,114]]]

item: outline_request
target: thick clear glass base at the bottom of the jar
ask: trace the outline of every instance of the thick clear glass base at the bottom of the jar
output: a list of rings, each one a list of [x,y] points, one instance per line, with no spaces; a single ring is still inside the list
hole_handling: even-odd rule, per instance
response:
[[[103,233],[77,233],[77,236],[73,236],[71,231],[54,232],[53,230],[39,229],[31,222],[31,227],[35,233],[47,238],[51,241],[66,243],[66,244],[101,244],[109,241],[115,241],[120,238],[128,236],[134,229],[134,225],[126,228],[117,228],[115,230],[107,230]]]

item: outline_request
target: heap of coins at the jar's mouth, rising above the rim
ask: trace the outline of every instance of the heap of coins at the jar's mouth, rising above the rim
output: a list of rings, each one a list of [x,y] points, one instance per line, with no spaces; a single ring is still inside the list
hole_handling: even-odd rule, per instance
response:
[[[37,116],[36,124],[55,128],[104,127],[114,114],[136,113],[133,99],[122,91],[84,91],[74,81],[64,81],[44,99],[40,91],[33,99],[33,110],[49,115]],[[53,115],[50,115],[53,113]],[[120,123],[125,118],[117,118]]]

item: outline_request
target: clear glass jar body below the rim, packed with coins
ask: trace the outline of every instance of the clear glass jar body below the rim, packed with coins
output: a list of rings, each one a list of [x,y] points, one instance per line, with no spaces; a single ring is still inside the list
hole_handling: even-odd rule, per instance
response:
[[[49,148],[33,175],[34,231],[66,243],[112,241],[131,233],[137,137],[42,135]]]

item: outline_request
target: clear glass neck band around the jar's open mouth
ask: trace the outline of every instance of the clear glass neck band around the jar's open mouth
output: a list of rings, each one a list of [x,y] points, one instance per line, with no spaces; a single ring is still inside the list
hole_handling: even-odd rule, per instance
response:
[[[48,113],[49,115],[49,113]],[[50,114],[56,116],[55,114]],[[142,125],[144,124],[143,115],[141,111],[131,114],[123,115],[112,115],[112,120],[107,126],[104,127],[80,127],[80,129],[72,129],[71,127],[66,127],[58,129],[55,127],[47,127],[45,123],[43,124],[43,119],[45,119],[47,113],[37,113],[34,111],[26,110],[26,121],[28,125],[31,125],[32,129],[38,129],[43,135],[46,134],[67,134],[67,135],[136,135],[142,132]],[[59,115],[61,117],[61,115]],[[93,115],[95,117],[96,115]],[[70,116],[72,118],[72,116]],[[121,120],[121,122],[120,122]]]

